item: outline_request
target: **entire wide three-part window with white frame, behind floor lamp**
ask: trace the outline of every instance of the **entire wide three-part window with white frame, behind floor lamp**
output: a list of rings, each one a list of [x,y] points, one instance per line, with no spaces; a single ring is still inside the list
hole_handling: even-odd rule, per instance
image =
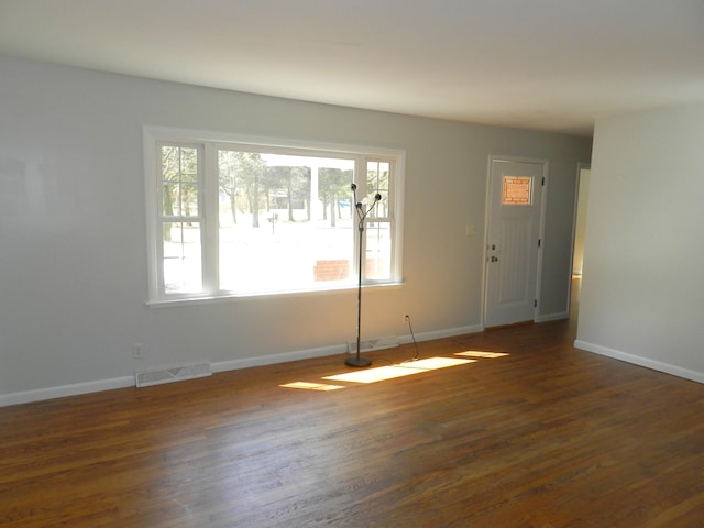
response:
[[[400,280],[403,152],[205,136],[145,130],[150,301]]]

